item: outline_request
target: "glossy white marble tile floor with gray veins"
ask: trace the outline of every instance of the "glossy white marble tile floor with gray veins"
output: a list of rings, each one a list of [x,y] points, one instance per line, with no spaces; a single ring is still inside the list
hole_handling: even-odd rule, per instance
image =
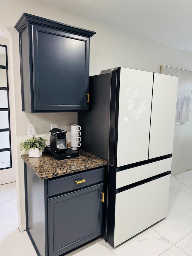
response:
[[[0,255],[36,256],[17,224],[15,182],[0,185]],[[167,218],[113,248],[99,238],[66,256],[192,255],[192,170],[171,177]]]

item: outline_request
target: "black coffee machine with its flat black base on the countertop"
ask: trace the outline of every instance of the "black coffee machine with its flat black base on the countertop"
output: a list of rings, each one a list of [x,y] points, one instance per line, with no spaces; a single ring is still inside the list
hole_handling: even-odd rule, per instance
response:
[[[50,131],[50,146],[46,146],[45,153],[57,160],[78,157],[79,154],[76,151],[66,146],[66,132],[58,128],[53,128]]]

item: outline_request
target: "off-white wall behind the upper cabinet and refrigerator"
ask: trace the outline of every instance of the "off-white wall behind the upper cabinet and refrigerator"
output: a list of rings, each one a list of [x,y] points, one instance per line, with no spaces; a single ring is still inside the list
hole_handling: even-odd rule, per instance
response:
[[[23,162],[20,159],[19,143],[27,138],[27,125],[35,125],[36,135],[49,139],[50,123],[70,131],[70,123],[77,122],[76,113],[29,114],[21,110],[19,40],[14,25],[23,12],[56,20],[72,26],[97,32],[90,39],[90,75],[114,67],[128,67],[160,72],[161,65],[192,70],[191,53],[166,44],[142,38],[120,29],[98,23],[79,15],[44,5],[38,1],[1,1],[1,22],[13,37],[13,68],[16,102],[16,134],[18,149],[18,181],[21,202],[21,224],[25,224]],[[142,22],[142,21],[141,21]],[[162,99],[163,100],[163,99]],[[190,168],[192,123],[176,125],[173,149],[172,172]],[[69,133],[67,133],[69,136]],[[68,137],[69,138],[69,137]]]

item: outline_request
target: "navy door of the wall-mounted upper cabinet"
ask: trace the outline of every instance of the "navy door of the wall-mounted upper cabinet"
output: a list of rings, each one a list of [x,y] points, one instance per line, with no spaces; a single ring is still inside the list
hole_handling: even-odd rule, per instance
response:
[[[88,38],[33,25],[34,109],[86,109]]]

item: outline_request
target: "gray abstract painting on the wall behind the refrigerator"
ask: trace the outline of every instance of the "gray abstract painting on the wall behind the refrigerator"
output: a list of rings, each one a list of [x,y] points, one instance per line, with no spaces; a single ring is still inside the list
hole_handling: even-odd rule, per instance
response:
[[[161,66],[160,73],[179,77],[175,123],[178,124],[189,122],[192,92],[192,72],[179,68]]]

